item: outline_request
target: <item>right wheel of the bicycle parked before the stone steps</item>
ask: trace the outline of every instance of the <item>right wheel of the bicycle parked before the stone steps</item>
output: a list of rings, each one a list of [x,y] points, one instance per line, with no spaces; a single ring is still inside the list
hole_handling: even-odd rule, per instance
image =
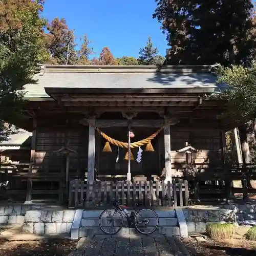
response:
[[[142,209],[134,217],[135,228],[142,234],[151,234],[156,231],[159,219],[154,210]]]

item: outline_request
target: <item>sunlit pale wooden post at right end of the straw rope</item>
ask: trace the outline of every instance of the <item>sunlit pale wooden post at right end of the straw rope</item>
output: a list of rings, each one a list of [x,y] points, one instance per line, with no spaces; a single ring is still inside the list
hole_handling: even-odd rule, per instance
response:
[[[172,182],[172,160],[170,156],[170,125],[164,128],[165,183]]]

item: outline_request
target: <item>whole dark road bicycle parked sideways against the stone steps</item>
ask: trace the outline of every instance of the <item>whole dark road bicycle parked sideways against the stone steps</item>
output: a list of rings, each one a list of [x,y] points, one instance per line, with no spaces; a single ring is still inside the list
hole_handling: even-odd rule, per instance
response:
[[[133,208],[133,211],[131,211],[131,214],[129,215],[129,212],[126,209],[129,207],[119,205],[119,202],[117,200],[113,201],[112,205],[114,206],[114,209],[106,209],[102,211],[101,215],[99,216],[100,229],[106,234],[116,234],[123,227],[123,219],[126,218],[129,227],[135,227],[136,230],[138,230],[142,234],[152,234],[158,227],[158,216],[156,212],[152,209],[138,210],[137,207],[141,204],[141,202],[136,203],[136,206]],[[113,215],[112,211],[114,211]],[[142,217],[142,214],[145,214],[145,216]],[[103,218],[104,215],[106,215],[106,220],[104,220]],[[150,215],[152,215],[153,217],[150,217]],[[103,221],[103,225],[101,221]],[[153,221],[153,223],[150,223],[151,221]],[[119,226],[117,226],[117,229],[115,230],[114,225],[118,224]],[[144,229],[143,227],[140,227],[140,225],[144,225]],[[152,228],[152,230],[150,228]]]

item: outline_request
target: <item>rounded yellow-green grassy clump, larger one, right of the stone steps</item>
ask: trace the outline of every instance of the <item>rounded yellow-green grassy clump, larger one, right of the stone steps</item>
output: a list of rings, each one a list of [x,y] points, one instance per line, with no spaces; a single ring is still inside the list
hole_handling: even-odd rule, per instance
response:
[[[230,223],[212,223],[206,226],[206,233],[212,239],[226,239],[233,236],[234,229]]]

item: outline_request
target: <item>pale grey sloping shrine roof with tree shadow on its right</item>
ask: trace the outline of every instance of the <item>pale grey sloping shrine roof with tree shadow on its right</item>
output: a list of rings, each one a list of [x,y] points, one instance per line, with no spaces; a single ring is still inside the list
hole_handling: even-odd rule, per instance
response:
[[[137,93],[139,89],[200,89],[214,93],[223,88],[222,84],[217,84],[217,76],[211,72],[210,66],[42,65],[34,78],[37,83],[24,87],[25,98],[50,98],[46,93],[48,88],[58,88],[62,92],[66,89],[93,90],[94,93],[112,89],[119,89],[119,93],[127,90]]]

